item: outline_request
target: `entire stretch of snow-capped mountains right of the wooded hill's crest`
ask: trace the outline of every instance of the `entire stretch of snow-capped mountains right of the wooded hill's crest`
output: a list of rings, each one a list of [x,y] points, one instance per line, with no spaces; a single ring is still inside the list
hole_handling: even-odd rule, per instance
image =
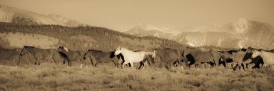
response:
[[[240,18],[238,21],[226,25],[184,27],[182,29],[147,28],[149,26],[152,25],[137,25],[124,32],[137,36],[166,38],[192,47],[274,49],[274,36],[272,36],[274,27],[246,18]]]

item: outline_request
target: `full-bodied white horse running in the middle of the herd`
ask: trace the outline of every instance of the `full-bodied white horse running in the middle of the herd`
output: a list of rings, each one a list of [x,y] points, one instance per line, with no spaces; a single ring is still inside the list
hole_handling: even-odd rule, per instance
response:
[[[125,48],[118,48],[118,49],[115,49],[114,51],[115,51],[114,55],[119,55],[121,53],[124,57],[125,62],[122,63],[122,68],[124,64],[128,64],[128,63],[130,63],[131,67],[133,67],[133,63],[141,62],[142,60],[144,60],[145,55],[152,55],[153,57],[155,57],[155,52],[146,52],[146,51],[134,52]],[[145,63],[144,63],[144,66],[145,66]]]

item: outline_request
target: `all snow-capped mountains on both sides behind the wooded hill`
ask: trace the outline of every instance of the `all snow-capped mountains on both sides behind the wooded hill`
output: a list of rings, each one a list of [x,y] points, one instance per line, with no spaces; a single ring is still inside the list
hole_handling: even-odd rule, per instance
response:
[[[0,5],[0,22],[23,25],[62,25],[66,27],[87,26],[63,16],[38,14],[5,5]],[[251,21],[246,18],[240,18],[238,21],[226,25],[204,25],[181,29],[159,28],[140,23],[136,27],[123,32],[139,37],[155,36],[165,38],[192,47],[274,49],[273,25]]]

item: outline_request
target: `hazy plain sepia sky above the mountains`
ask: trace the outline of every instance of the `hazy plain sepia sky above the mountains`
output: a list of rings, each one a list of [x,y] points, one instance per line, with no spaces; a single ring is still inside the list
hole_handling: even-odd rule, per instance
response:
[[[175,29],[224,25],[241,17],[274,25],[274,0],[0,0],[0,3],[122,31],[139,23]]]

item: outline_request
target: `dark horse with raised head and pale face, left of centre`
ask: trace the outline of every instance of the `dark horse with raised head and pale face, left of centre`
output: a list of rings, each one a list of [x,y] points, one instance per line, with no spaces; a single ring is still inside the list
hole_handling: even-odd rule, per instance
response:
[[[74,62],[83,62],[84,51],[71,51],[62,46],[58,48],[58,51],[66,54],[69,60],[71,60],[72,64],[74,64]]]

